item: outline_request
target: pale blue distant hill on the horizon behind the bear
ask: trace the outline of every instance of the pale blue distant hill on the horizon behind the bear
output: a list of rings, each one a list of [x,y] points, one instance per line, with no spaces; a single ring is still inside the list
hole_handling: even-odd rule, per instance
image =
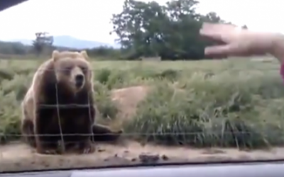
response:
[[[68,47],[68,48],[75,48],[75,49],[86,49],[86,48],[94,48],[100,46],[108,46],[118,48],[119,45],[117,44],[108,44],[104,42],[97,42],[92,40],[80,40],[74,38],[69,35],[58,35],[53,37],[53,45],[60,46],[60,47]],[[21,42],[23,45],[31,45],[33,40],[25,40],[25,39],[15,39],[9,40],[11,42]]]

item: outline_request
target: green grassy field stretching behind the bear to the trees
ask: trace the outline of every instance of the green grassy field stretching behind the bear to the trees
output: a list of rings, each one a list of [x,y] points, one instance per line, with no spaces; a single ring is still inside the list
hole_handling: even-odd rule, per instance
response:
[[[0,142],[18,139],[20,103],[35,60],[0,60]],[[198,62],[92,62],[99,122],[143,142],[260,148],[284,144],[279,64],[229,59]],[[112,101],[116,89],[148,88],[135,114]],[[129,93],[129,95],[128,95]],[[129,105],[140,90],[126,91]],[[130,117],[130,118],[124,118]]]

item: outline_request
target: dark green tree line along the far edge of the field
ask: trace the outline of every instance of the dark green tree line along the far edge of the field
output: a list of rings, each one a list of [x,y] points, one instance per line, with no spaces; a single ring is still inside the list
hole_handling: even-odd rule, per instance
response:
[[[87,49],[89,55],[116,59],[203,59],[204,47],[213,42],[200,38],[202,23],[230,22],[224,21],[215,12],[197,13],[198,4],[196,0],[170,0],[165,5],[156,1],[125,0],[122,11],[111,18],[113,30],[110,33],[118,36],[116,42],[119,42],[121,48],[102,46]],[[247,28],[246,25],[243,28]],[[48,33],[36,33],[33,46],[0,42],[0,54],[40,55],[55,48],[67,49],[53,46],[53,38]]]

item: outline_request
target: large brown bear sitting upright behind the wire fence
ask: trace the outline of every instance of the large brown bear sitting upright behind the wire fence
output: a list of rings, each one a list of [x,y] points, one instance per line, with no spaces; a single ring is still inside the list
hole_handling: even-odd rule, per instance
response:
[[[95,125],[92,67],[87,52],[53,51],[38,67],[22,107],[21,132],[40,154],[65,149],[94,152],[94,141],[112,141],[121,134]],[[61,142],[61,151],[58,143]],[[63,151],[62,151],[63,150]]]

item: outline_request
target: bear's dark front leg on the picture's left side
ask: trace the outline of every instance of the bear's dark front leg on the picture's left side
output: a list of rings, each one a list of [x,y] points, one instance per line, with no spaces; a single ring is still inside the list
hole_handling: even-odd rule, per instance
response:
[[[54,121],[52,115],[53,110],[50,108],[35,109],[35,146],[38,154],[61,154],[58,151],[58,139],[56,135],[52,135],[50,128],[56,125],[50,125]]]

